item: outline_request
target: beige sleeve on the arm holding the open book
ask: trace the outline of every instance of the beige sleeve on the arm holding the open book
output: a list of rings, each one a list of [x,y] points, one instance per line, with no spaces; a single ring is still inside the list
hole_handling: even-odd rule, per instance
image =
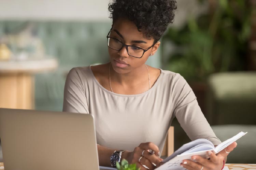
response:
[[[188,137],[191,140],[205,138],[210,140],[213,145],[220,144],[221,141],[205,119],[196,96],[186,80],[180,74],[175,74],[171,87],[172,103],[175,106],[174,115]]]

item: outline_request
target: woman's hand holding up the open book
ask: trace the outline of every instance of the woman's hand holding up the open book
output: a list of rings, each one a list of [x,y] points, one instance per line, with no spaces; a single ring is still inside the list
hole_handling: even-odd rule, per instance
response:
[[[215,155],[213,152],[209,151],[209,159],[203,158],[201,156],[192,156],[191,159],[194,160],[183,160],[181,166],[188,170],[221,170],[223,167],[223,160],[227,157],[228,153],[236,148],[237,142],[233,142],[227,148]]]

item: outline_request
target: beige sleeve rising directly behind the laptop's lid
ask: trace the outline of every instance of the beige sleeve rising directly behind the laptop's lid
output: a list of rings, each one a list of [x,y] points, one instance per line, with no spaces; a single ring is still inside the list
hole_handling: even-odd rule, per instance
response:
[[[63,112],[89,113],[84,83],[81,71],[78,68],[72,68],[65,83]]]

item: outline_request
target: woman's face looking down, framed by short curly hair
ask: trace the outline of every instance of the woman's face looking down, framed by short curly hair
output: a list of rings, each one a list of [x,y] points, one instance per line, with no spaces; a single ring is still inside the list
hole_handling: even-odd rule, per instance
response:
[[[118,19],[113,24],[110,37],[118,39],[126,45],[136,46],[147,50],[154,44],[154,39],[146,39],[142,32],[139,32],[136,25],[126,19]],[[110,62],[113,69],[118,73],[129,73],[131,71],[139,71],[144,67],[150,54],[154,54],[159,47],[160,42],[147,50],[141,58],[135,58],[127,53],[124,46],[119,51],[109,47]],[[130,52],[130,51],[129,51]]]

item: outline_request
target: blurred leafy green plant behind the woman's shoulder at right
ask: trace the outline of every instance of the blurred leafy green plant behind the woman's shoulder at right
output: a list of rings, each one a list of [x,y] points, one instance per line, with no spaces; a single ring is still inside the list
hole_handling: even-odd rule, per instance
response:
[[[200,0],[200,2],[210,2]],[[207,13],[189,18],[183,28],[170,27],[163,42],[174,44],[165,69],[187,81],[205,81],[209,74],[245,70],[251,35],[249,1],[215,0]]]

